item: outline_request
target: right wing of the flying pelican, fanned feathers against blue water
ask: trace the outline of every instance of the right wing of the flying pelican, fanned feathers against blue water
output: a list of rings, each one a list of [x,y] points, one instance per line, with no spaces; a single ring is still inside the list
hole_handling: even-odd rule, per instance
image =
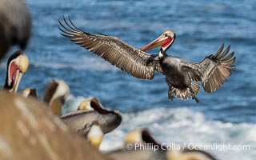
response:
[[[227,55],[230,46],[222,53],[223,48],[224,44],[215,55],[211,54],[199,63],[188,63],[183,68],[189,74],[190,79],[202,82],[202,87],[207,93],[214,92],[221,87],[230,77],[230,70],[235,67],[232,66],[236,59],[236,57],[233,58],[234,52]]]

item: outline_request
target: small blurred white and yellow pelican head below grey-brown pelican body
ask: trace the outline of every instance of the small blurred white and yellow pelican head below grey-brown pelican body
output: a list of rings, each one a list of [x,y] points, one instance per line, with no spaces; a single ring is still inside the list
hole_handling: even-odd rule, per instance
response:
[[[101,127],[98,124],[98,121],[94,121],[90,126],[90,130],[87,134],[87,141],[90,142],[91,145],[98,148],[102,143],[103,132]]]

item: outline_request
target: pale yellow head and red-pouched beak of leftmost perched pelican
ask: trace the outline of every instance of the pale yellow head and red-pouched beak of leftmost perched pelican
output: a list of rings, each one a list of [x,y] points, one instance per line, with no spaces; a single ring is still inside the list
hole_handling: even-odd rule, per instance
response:
[[[12,88],[9,90],[11,93],[16,94],[19,83],[21,82],[22,75],[26,72],[29,66],[29,58],[25,54],[21,54],[17,61],[10,65],[8,83],[13,82]]]

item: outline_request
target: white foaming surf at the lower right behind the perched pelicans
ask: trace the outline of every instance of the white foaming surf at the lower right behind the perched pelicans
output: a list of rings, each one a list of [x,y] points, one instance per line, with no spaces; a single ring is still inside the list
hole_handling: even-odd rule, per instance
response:
[[[106,134],[100,150],[113,150],[122,146],[128,132],[148,128],[159,142],[167,144],[231,144],[249,145],[250,150],[208,150],[218,159],[253,159],[256,142],[256,125],[250,123],[207,120],[198,111],[186,107],[154,108],[138,113],[122,114],[122,125]]]

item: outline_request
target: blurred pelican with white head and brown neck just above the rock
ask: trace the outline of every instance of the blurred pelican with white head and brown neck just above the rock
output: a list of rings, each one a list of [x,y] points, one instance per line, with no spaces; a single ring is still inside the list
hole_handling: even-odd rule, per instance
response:
[[[42,101],[46,102],[54,114],[61,115],[62,105],[70,94],[70,87],[62,80],[50,82],[45,90]]]

